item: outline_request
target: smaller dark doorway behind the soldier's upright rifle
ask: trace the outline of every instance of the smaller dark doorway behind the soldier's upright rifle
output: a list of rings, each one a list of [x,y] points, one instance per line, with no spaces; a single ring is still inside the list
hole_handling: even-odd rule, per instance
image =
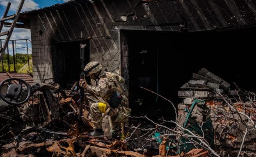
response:
[[[87,44],[85,65],[89,62],[89,41],[59,42],[53,44],[54,80],[62,88],[70,89],[79,81],[81,73],[80,44]]]

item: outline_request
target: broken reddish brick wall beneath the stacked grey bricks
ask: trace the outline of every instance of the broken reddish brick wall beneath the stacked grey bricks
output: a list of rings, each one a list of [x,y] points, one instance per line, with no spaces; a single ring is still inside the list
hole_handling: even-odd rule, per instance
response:
[[[245,109],[241,107],[241,103],[242,102],[236,103],[235,108],[245,113]],[[249,102],[243,103],[249,104]],[[185,108],[190,108],[190,105],[178,104],[178,124],[180,125],[184,124],[185,118],[187,117]],[[254,110],[247,106],[246,112],[253,113]],[[195,106],[191,118],[200,125],[205,122],[205,119],[210,118],[214,130],[213,147],[217,149],[222,156],[229,155],[233,157],[238,154],[248,122],[248,119],[244,115],[231,113],[229,108],[219,100],[208,100],[204,105]],[[249,130],[253,127],[254,126],[249,126]],[[256,157],[254,153],[255,150],[256,130],[252,130],[245,138],[241,157]]]

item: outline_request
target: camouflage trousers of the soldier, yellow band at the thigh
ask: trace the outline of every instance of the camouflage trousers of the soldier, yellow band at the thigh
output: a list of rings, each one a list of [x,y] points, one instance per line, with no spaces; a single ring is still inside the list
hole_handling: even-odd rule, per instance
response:
[[[107,110],[108,106],[106,107]],[[123,111],[123,106],[119,105],[117,108],[115,109],[110,109],[110,112],[108,113],[108,115],[110,116],[110,131],[113,132],[114,130],[120,130],[121,127],[121,122],[122,123],[127,123],[128,122],[128,117],[127,119],[121,119],[120,118],[120,114],[118,113],[124,113],[126,114],[126,112]],[[94,103],[91,104],[91,117],[92,117],[92,121],[94,121],[94,126],[96,128],[102,128],[102,120],[98,122],[99,119],[101,119],[102,117],[102,113],[99,110],[99,103]],[[96,123],[98,122],[98,123]]]

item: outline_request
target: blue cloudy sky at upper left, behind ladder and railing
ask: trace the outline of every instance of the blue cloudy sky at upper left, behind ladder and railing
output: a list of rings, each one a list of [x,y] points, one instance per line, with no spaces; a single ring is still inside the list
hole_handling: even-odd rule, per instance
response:
[[[64,3],[67,1],[68,0],[25,0],[23,9],[21,12],[39,9],[39,8],[43,8],[43,7],[49,7],[53,4]],[[16,9],[18,7],[18,4],[20,3],[20,0],[0,0],[0,18],[2,18],[2,15],[4,14],[4,11],[5,11],[5,7],[8,2],[11,2],[11,8],[9,10],[8,15],[12,15],[12,14],[16,13]],[[8,29],[9,29],[9,27],[3,27],[1,32],[7,31]],[[6,38],[6,36],[0,37],[0,39],[5,39],[5,38]],[[14,28],[14,32],[11,35],[11,40],[16,40],[16,39],[31,40],[30,29]],[[12,49],[11,49],[12,46],[10,44],[11,43],[9,42],[9,51],[12,52]],[[24,47],[24,46],[25,46],[25,40],[17,43],[17,47]],[[29,47],[31,49],[31,44],[29,44]],[[18,50],[19,51],[17,51],[17,53],[27,53],[26,49],[18,49]]]

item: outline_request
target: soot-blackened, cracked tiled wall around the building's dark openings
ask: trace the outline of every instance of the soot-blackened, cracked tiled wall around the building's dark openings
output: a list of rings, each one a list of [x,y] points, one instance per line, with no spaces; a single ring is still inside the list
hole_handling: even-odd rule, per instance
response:
[[[249,0],[73,0],[31,11],[34,81],[53,77],[58,68],[52,66],[52,43],[89,39],[90,60],[120,73],[119,29],[194,32],[253,25],[255,6]]]

